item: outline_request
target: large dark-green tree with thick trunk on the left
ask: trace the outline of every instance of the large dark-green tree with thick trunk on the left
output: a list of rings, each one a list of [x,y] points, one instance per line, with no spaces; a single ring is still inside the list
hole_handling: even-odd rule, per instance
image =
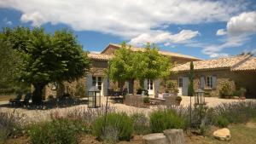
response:
[[[71,82],[84,76],[90,68],[82,46],[67,29],[49,34],[43,28],[16,27],[3,33],[11,47],[22,54],[19,78],[33,85],[33,103],[41,103],[46,84]]]

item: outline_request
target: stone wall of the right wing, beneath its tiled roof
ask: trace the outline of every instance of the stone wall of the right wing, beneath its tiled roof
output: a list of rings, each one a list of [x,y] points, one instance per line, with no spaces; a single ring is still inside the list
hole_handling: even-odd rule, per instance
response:
[[[222,70],[208,70],[208,71],[195,71],[194,88],[201,88],[201,77],[207,76],[216,77],[216,87],[207,88],[204,87],[205,92],[210,96],[219,96],[219,90],[224,83],[231,85],[230,91],[234,91],[238,87],[247,89],[247,97],[253,97],[256,94],[256,72],[232,72],[229,69]],[[188,78],[189,72],[177,72],[171,76],[174,83],[178,83],[178,78]]]

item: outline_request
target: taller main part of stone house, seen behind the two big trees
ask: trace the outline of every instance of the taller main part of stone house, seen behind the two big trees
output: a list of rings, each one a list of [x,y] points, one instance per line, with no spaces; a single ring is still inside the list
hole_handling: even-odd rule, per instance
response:
[[[80,78],[78,81],[73,83],[64,82],[63,84],[49,84],[44,88],[44,97],[47,99],[49,95],[60,96],[64,92],[70,93],[71,95],[86,95],[87,89],[90,89],[91,86],[97,86],[101,90],[101,95],[108,95],[108,89],[117,89],[117,84],[110,82],[105,74],[106,69],[108,68],[108,60],[113,58],[114,51],[120,49],[121,45],[109,43],[108,46],[102,50],[101,54],[89,53],[88,57],[92,62],[92,68],[90,72]],[[132,51],[143,51],[143,48],[130,47]],[[166,55],[171,57],[173,63],[177,65],[184,64],[189,61],[200,60],[193,56],[182,55],[172,52],[159,51],[161,55]],[[129,83],[125,83],[125,87],[129,91]],[[145,79],[144,89],[148,89],[148,93],[151,96],[157,95],[160,92],[160,80],[154,79]],[[138,82],[135,82],[134,91],[138,88]]]

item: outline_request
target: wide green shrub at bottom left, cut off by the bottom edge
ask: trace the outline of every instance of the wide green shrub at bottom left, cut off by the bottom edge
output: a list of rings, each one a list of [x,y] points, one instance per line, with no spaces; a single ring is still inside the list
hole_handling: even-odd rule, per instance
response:
[[[79,133],[86,131],[86,127],[81,121],[57,118],[33,124],[29,130],[32,144],[77,144]]]

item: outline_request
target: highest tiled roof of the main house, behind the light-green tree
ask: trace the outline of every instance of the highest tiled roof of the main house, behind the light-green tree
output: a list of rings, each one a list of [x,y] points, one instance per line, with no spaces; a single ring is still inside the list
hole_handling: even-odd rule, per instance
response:
[[[117,48],[121,48],[121,45],[119,45],[119,44],[109,43],[109,45],[112,45],[112,46],[117,47]],[[130,48],[132,51],[145,51],[145,49],[143,49],[143,48],[136,48],[136,47],[133,47],[131,45],[127,45],[127,48]],[[108,47],[107,47],[107,49],[108,49]],[[104,53],[105,50],[106,49],[104,49],[102,51],[102,53]],[[161,55],[167,55],[167,56],[172,56],[172,57],[177,57],[177,58],[190,59],[190,60],[201,60],[201,59],[196,58],[194,56],[177,54],[177,53],[172,53],[172,52],[168,52],[168,51],[160,50],[159,53]]]

